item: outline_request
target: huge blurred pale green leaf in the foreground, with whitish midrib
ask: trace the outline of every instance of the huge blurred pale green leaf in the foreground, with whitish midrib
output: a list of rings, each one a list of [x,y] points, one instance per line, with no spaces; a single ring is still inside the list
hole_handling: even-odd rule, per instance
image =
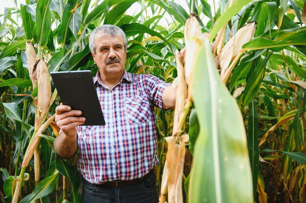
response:
[[[209,40],[201,37],[197,42],[192,89],[200,132],[189,202],[252,203],[252,174],[240,109],[220,80]]]

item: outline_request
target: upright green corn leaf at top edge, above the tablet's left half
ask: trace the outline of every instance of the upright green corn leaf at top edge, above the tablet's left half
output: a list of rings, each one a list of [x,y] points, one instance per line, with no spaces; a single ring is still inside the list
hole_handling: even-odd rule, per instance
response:
[[[69,29],[69,22],[74,14],[74,9],[79,0],[68,0],[63,11],[62,22],[57,33],[57,41],[59,44],[64,44],[66,40],[71,38],[71,31]]]

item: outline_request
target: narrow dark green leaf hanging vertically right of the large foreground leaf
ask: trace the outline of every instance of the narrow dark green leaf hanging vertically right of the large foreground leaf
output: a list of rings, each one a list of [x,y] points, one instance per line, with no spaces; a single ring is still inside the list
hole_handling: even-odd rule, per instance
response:
[[[257,102],[255,100],[252,100],[249,103],[247,147],[250,156],[251,170],[253,176],[253,195],[255,198],[259,171],[258,112]]]

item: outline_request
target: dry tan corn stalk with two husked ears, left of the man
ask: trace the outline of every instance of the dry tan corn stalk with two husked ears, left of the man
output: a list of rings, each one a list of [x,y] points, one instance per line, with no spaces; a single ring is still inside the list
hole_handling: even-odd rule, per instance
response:
[[[49,112],[51,104],[54,102],[57,91],[54,91],[51,97],[51,84],[50,84],[50,76],[48,72],[47,65],[45,64],[43,59],[38,60],[36,52],[34,50],[33,45],[30,42],[26,43],[26,57],[27,63],[29,65],[29,75],[31,81],[34,84],[38,85],[38,103],[36,106],[35,113],[35,130],[34,134],[31,137],[29,145],[24,154],[24,158],[22,161],[22,170],[19,175],[19,179],[17,180],[16,189],[14,191],[12,203],[17,203],[20,197],[21,185],[24,176],[24,172],[26,167],[28,166],[32,156],[34,154],[34,173],[35,173],[35,184],[40,180],[40,159],[39,159],[39,142],[41,140],[41,134],[43,134],[44,130],[50,125],[50,123],[54,120],[55,114],[51,116],[46,122],[45,119]],[[36,73],[36,77],[34,76]]]

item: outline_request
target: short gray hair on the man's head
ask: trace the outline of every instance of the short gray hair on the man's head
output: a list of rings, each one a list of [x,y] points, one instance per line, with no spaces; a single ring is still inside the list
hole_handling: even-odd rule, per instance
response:
[[[99,27],[96,27],[90,33],[90,37],[89,37],[89,49],[90,49],[90,52],[92,52],[93,54],[96,54],[96,50],[95,50],[96,47],[94,44],[94,39],[97,34],[110,35],[110,36],[122,36],[125,51],[128,50],[127,36],[125,35],[125,33],[120,27],[116,25],[100,25]]]

